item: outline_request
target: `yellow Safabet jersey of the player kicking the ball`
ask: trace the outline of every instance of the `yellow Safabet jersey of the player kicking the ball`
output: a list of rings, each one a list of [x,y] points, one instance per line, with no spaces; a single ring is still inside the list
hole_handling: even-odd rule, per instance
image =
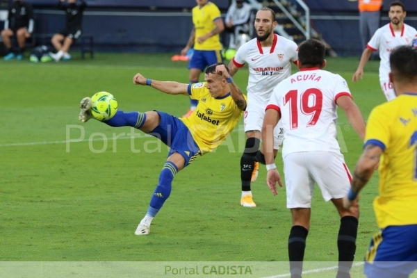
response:
[[[235,104],[230,92],[223,97],[212,97],[206,82],[188,85],[188,95],[198,100],[197,108],[189,117],[179,120],[188,127],[202,154],[211,152],[229,136],[243,111]]]

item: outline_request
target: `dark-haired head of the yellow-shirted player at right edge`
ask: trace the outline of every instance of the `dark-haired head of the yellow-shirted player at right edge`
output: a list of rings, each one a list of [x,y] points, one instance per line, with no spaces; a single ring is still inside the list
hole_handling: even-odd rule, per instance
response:
[[[389,56],[395,81],[417,82],[417,49],[409,45],[395,47]]]

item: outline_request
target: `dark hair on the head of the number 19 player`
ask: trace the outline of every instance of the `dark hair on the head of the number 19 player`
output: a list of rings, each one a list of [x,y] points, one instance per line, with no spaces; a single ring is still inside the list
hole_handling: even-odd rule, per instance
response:
[[[325,44],[316,39],[302,42],[298,47],[298,60],[302,67],[322,67],[325,61]]]

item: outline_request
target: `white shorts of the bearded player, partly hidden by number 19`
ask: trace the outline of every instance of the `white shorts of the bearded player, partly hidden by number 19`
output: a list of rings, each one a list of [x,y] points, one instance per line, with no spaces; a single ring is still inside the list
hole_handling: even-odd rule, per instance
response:
[[[266,106],[265,106],[266,107]],[[262,131],[263,117],[265,117],[265,107],[248,104],[244,113],[243,123],[245,124],[245,132],[247,131]],[[274,149],[279,149],[279,146],[284,140],[284,128],[281,121],[278,122],[274,128]]]

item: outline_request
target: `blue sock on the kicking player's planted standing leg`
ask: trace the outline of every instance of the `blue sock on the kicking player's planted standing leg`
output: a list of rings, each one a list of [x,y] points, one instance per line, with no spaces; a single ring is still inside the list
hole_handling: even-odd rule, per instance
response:
[[[172,180],[177,172],[178,168],[174,163],[171,161],[165,162],[161,174],[159,174],[159,183],[155,188],[154,195],[152,195],[147,215],[154,217],[163,206],[163,203],[170,197]]]

